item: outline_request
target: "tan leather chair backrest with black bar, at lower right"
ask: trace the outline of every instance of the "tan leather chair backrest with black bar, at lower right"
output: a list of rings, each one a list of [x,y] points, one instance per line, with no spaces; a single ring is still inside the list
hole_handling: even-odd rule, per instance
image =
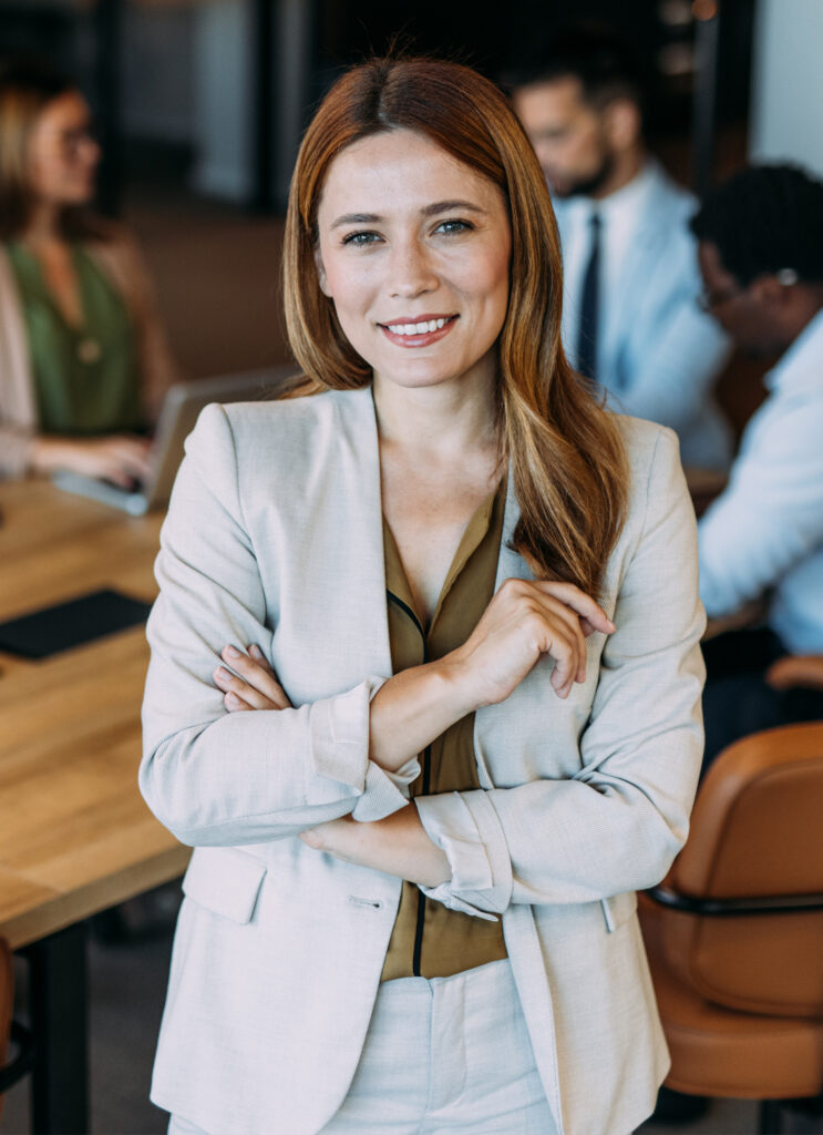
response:
[[[718,757],[667,885],[692,898],[823,897],[823,722],[755,733]],[[667,911],[663,944],[709,1000],[823,1018],[823,910]]]

